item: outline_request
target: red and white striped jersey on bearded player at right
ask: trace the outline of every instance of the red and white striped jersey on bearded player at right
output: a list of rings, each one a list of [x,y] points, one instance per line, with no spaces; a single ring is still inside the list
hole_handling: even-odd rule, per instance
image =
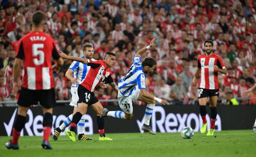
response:
[[[217,65],[219,69],[225,69],[222,58],[215,53],[210,56],[200,55],[198,57],[198,68],[201,68],[201,76],[199,88],[204,89],[219,89],[218,86],[218,71],[214,70],[213,66]]]

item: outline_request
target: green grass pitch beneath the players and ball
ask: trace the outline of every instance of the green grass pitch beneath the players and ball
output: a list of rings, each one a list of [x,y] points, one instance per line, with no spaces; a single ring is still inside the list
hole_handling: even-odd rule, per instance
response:
[[[107,134],[113,141],[93,140],[71,142],[67,136],[50,139],[53,150],[41,148],[42,137],[21,137],[19,150],[7,150],[0,137],[0,157],[256,157],[256,134],[252,130],[215,132],[216,136],[195,133],[183,139],[180,133],[115,133]],[[51,138],[52,136],[50,136]]]

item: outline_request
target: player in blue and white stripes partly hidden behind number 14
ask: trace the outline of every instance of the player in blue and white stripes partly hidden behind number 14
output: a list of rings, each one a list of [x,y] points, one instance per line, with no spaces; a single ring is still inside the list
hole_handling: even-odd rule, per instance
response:
[[[92,44],[85,44],[83,46],[83,53],[84,56],[81,58],[85,58],[85,59],[91,59],[93,61],[96,61],[94,59],[92,59],[92,56],[94,54],[94,48],[92,46]],[[60,133],[67,127],[70,125],[72,119],[73,119],[73,115],[77,112],[78,108],[77,108],[77,102],[78,102],[78,84],[79,82],[82,82],[82,80],[85,79],[85,77],[87,76],[89,70],[90,70],[91,66],[87,66],[87,64],[82,64],[80,62],[76,62],[74,61],[69,69],[66,71],[66,77],[71,80],[71,82],[73,83],[71,86],[71,95],[72,95],[72,101],[70,102],[70,106],[74,107],[73,113],[71,115],[69,115],[64,122],[57,128],[54,129],[54,135],[53,135],[53,139],[57,140]],[[104,83],[100,84],[101,88],[106,88],[107,86]],[[87,137],[84,134],[84,126],[85,126],[85,116],[86,115],[82,115],[82,118],[80,119],[80,121],[78,122],[78,140],[91,140],[91,138]],[[97,123],[99,121],[102,121],[100,119],[100,117],[97,117]],[[101,123],[101,122],[99,122]]]

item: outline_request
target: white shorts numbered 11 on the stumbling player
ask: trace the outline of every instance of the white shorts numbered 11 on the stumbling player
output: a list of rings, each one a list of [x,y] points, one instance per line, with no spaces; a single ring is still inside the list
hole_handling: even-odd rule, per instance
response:
[[[123,110],[123,112],[127,114],[132,114],[133,113],[133,101],[137,101],[139,97],[139,92],[140,89],[137,88],[133,94],[129,96],[123,96],[120,91],[118,91],[118,103],[120,108]]]

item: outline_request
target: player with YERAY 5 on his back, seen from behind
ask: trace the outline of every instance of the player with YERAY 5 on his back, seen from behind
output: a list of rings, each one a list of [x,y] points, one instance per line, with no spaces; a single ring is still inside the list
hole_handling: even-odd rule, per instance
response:
[[[18,77],[23,61],[25,74],[18,98],[18,115],[15,119],[13,137],[5,144],[8,149],[19,149],[18,139],[26,123],[27,110],[31,105],[40,102],[43,107],[43,142],[44,149],[52,149],[49,136],[53,124],[53,106],[55,106],[55,90],[51,58],[56,60],[55,68],[63,64],[59,56],[57,44],[43,32],[46,14],[37,11],[32,15],[32,32],[18,42],[18,50],[14,61],[13,88],[18,91]]]

